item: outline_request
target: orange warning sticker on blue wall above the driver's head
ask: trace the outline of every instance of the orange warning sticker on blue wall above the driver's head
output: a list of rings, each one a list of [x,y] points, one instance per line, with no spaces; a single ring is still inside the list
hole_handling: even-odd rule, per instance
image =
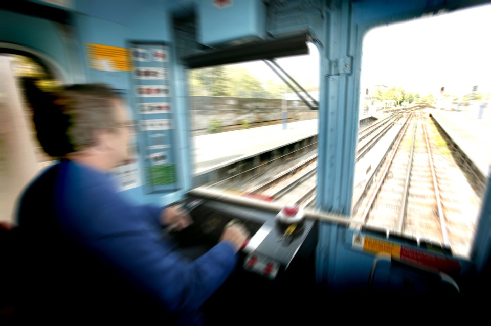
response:
[[[117,46],[86,43],[88,64],[104,71],[131,71],[130,51]]]

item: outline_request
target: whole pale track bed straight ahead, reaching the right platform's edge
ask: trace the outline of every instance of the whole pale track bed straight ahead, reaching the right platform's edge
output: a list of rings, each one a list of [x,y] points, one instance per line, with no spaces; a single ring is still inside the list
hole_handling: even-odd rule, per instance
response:
[[[352,218],[466,257],[475,221],[461,191],[471,186],[451,155],[442,155],[444,147],[434,145],[436,136],[432,121],[414,113]]]

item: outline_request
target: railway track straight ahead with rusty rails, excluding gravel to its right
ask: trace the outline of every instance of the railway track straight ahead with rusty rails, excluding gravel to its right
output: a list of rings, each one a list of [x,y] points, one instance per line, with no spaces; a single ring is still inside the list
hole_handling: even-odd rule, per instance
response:
[[[438,181],[425,136],[420,113],[416,113],[367,194],[368,202],[360,207],[363,213],[354,219],[368,227],[448,247]]]

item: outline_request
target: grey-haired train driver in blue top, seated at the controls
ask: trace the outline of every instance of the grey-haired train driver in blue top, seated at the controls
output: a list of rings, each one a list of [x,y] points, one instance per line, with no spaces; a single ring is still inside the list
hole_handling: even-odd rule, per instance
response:
[[[190,217],[126,201],[110,176],[130,155],[124,101],[103,84],[55,94],[25,84],[39,142],[59,160],[19,199],[19,319],[202,323],[199,307],[232,273],[248,231],[229,226],[187,260],[161,227],[185,228]]]

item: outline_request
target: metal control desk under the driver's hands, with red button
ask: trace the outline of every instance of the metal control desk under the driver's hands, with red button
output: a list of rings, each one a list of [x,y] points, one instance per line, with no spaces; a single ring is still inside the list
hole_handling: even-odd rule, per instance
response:
[[[305,261],[314,252],[317,242],[314,221],[303,221],[291,236],[285,238],[285,226],[275,221],[275,213],[199,198],[190,198],[184,205],[194,223],[175,234],[183,248],[203,245],[211,248],[233,219],[248,228],[251,238],[241,250],[240,262],[245,272],[276,280],[295,270],[296,261]]]

